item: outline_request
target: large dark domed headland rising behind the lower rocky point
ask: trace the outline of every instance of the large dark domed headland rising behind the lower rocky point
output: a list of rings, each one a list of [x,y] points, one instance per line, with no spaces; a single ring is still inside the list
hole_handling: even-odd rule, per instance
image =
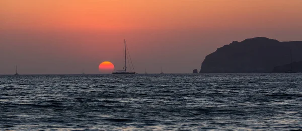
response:
[[[277,65],[302,60],[302,41],[279,42],[256,37],[234,41],[207,55],[199,73],[264,73]]]

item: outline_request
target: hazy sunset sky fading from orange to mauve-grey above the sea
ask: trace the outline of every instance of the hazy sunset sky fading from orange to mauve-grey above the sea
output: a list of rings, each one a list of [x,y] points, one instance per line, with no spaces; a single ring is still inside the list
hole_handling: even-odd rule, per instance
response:
[[[302,41],[301,0],[0,0],[0,74],[192,73],[232,41]]]

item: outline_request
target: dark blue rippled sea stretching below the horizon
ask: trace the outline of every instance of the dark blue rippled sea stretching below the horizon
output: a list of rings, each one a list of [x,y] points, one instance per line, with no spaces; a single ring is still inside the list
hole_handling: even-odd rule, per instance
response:
[[[302,74],[0,76],[0,130],[297,130]]]

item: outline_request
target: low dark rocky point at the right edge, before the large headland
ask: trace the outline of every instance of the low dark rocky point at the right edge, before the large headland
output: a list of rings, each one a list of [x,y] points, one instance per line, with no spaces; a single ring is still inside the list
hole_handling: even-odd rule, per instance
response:
[[[302,61],[292,62],[274,67],[273,73],[302,72]]]

